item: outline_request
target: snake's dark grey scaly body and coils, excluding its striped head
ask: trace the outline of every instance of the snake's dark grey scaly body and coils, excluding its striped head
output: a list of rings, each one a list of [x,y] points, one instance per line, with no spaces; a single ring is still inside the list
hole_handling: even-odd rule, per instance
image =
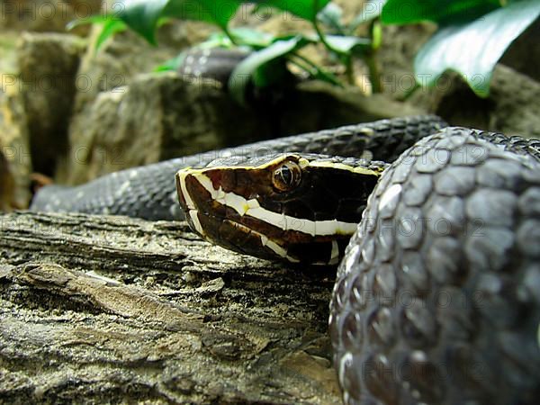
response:
[[[180,219],[179,169],[285,152],[391,163],[362,206],[330,303],[345,403],[537,403],[538,140],[446,127],[433,116],[397,118],[45,187],[31,210]],[[279,175],[293,182],[292,173]],[[188,211],[196,205],[182,198]]]

